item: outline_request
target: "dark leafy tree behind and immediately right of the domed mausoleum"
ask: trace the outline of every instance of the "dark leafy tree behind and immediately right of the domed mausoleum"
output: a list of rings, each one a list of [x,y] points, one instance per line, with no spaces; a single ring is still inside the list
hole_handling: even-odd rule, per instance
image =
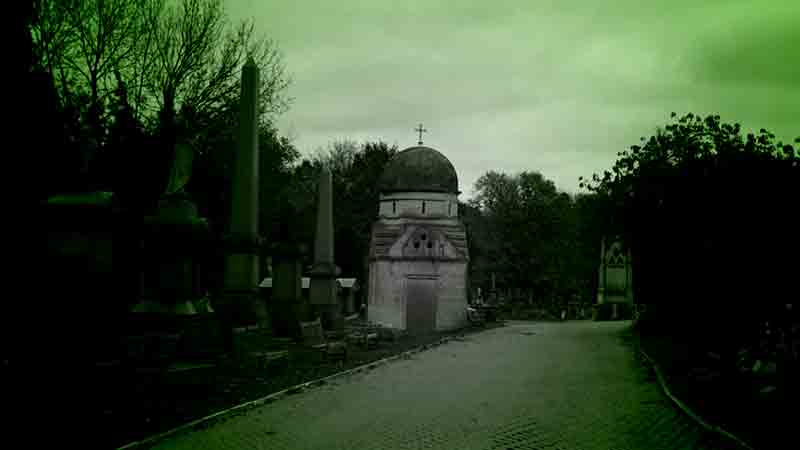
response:
[[[487,172],[475,192],[462,209],[477,250],[474,281],[489,287],[495,273],[499,286],[527,288],[553,301],[580,292],[587,283],[575,262],[578,216],[568,194],[537,172]]]

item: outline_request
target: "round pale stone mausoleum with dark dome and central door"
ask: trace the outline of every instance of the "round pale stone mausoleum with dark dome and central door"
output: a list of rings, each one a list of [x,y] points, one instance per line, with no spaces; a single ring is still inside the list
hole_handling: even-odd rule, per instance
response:
[[[465,325],[469,254],[455,167],[420,142],[389,161],[379,191],[368,320],[412,333]]]

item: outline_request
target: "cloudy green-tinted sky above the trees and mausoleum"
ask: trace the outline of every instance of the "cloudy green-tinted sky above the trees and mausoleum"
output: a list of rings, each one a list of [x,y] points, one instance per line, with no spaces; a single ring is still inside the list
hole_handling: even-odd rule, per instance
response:
[[[282,133],[537,170],[575,192],[669,113],[800,136],[798,0],[226,0],[278,41],[292,74]]]

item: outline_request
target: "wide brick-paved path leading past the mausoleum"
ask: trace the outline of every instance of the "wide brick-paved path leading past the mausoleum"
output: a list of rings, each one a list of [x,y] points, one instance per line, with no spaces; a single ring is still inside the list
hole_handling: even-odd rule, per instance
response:
[[[160,449],[723,449],[673,408],[630,322],[509,322],[177,435]]]

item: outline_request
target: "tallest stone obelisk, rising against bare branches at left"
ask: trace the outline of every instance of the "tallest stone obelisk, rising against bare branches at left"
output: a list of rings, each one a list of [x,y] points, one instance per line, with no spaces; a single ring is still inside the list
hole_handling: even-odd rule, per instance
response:
[[[256,316],[266,322],[259,300],[258,236],[258,67],[249,58],[242,69],[239,110],[239,139],[231,192],[230,228],[225,239],[225,279],[221,319],[227,344],[232,348],[229,329],[234,321]]]

